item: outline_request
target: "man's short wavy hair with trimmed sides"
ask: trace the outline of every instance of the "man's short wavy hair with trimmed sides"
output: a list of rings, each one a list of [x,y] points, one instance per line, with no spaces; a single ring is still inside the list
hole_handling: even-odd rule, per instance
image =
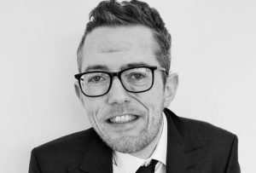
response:
[[[80,50],[84,45],[85,37],[98,26],[147,26],[154,33],[154,38],[159,43],[160,49],[155,51],[156,59],[160,66],[170,71],[171,66],[171,34],[167,31],[164,21],[161,19],[159,12],[137,0],[121,3],[116,0],[102,1],[95,9],[90,11],[90,21],[87,23],[84,36],[79,43],[78,66],[81,72],[81,55]],[[163,75],[164,84],[166,84],[166,75]]]

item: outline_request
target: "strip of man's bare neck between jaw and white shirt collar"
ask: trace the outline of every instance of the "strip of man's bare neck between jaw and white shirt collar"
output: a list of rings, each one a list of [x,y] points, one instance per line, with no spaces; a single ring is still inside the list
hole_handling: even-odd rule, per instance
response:
[[[154,149],[157,146],[158,141],[160,140],[160,136],[162,134],[163,127],[164,127],[164,121],[162,121],[160,130],[158,131],[158,134],[154,137],[154,140],[151,141],[147,147],[144,147],[142,150],[140,150],[136,153],[131,153],[131,155],[135,156],[137,158],[140,158],[140,159],[148,159],[154,152]]]

